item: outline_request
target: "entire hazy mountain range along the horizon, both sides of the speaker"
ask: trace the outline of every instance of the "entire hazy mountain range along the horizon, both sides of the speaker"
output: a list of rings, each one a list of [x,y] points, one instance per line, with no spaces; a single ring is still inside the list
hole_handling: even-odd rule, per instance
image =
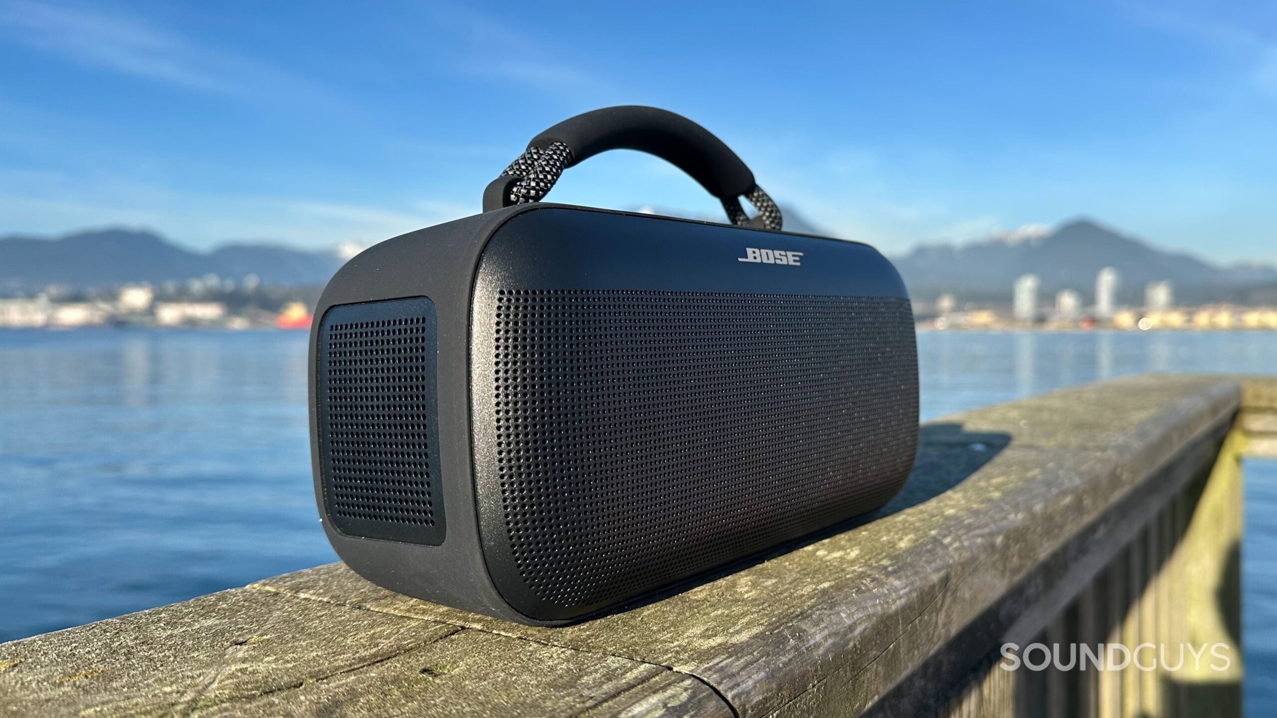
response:
[[[784,215],[787,230],[827,234],[792,208],[784,208]],[[891,261],[911,294],[925,302],[941,293],[1009,299],[1011,284],[1024,273],[1037,275],[1045,294],[1069,287],[1091,300],[1102,267],[1121,272],[1129,299],[1157,280],[1175,282],[1183,299],[1208,302],[1234,298],[1239,287],[1277,285],[1277,268],[1269,264],[1218,267],[1189,254],[1163,252],[1089,220],[1027,236],[922,244]],[[144,230],[89,230],[54,239],[8,236],[0,238],[0,294],[32,293],[50,285],[75,290],[143,281],[160,285],[208,273],[236,281],[257,275],[266,285],[308,286],[327,282],[344,262],[338,252],[271,244],[229,244],[198,253]]]

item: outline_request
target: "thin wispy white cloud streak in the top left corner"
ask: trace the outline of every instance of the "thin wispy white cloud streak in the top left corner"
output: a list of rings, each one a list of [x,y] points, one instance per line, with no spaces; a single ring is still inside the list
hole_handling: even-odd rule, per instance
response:
[[[32,0],[0,3],[0,32],[11,42],[100,70],[204,92],[321,95],[266,63],[202,46],[144,19]]]

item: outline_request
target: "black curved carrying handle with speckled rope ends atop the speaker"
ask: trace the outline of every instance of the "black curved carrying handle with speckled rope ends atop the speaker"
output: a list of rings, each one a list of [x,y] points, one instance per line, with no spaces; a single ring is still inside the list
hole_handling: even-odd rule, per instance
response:
[[[564,169],[608,149],[637,149],[670,162],[718,197],[732,224],[771,230],[782,226],[776,203],[722,139],[682,115],[641,105],[585,112],[534,137],[527,149],[484,189],[484,212],[539,202]],[[759,210],[757,217],[751,220],[744,213],[741,197]]]

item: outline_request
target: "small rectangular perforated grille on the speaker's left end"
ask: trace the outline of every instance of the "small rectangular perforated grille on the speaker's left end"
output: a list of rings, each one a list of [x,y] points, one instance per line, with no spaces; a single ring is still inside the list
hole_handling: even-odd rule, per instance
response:
[[[318,349],[321,468],[333,525],[349,535],[439,543],[433,303],[335,307]]]

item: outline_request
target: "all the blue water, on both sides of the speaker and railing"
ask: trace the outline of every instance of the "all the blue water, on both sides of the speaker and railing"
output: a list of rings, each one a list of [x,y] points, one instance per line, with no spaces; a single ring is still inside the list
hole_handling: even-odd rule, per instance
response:
[[[335,561],[304,332],[0,331],[0,640]],[[923,332],[925,419],[1140,372],[1277,373],[1277,333]],[[1248,708],[1277,714],[1277,462],[1246,471]]]

